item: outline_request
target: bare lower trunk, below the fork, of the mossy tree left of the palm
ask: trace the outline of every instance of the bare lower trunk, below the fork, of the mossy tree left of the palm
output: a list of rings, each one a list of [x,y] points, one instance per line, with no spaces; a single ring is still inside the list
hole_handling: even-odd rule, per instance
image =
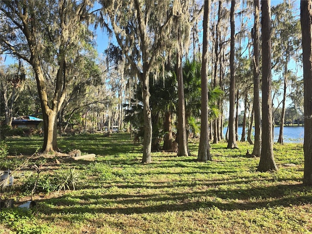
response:
[[[141,74],[143,94],[144,138],[142,163],[151,163],[152,150],[152,113],[150,109],[149,74]]]

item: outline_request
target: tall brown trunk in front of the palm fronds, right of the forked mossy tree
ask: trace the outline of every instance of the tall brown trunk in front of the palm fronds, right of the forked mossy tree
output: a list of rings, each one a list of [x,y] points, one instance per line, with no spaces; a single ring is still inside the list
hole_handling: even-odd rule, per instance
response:
[[[178,29],[178,32],[180,29]],[[180,33],[178,33],[180,35]],[[185,99],[184,99],[184,85],[183,85],[183,70],[182,70],[182,52],[183,46],[181,38],[178,36],[179,40],[179,51],[176,54],[176,77],[178,83],[178,134],[179,134],[179,145],[177,156],[188,156],[187,150],[187,136],[186,136],[186,116],[185,116]]]

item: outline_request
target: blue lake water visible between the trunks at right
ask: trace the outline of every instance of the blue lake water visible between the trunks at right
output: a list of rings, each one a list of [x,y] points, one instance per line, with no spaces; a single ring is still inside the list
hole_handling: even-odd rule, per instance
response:
[[[227,131],[227,127],[224,128],[223,134],[225,136]],[[277,142],[279,135],[279,127],[274,127],[274,142]],[[242,127],[238,127],[238,139],[240,140],[242,136]],[[304,127],[287,127],[284,126],[284,142],[285,143],[303,143],[304,137]],[[247,138],[247,130],[246,130],[246,138]]]

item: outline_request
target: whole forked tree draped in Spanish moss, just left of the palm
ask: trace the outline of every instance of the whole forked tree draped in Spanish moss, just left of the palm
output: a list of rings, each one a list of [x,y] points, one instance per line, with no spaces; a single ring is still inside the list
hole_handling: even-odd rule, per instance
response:
[[[122,54],[141,81],[143,93],[144,140],[142,163],[151,163],[152,119],[149,76],[155,72],[172,40],[173,7],[167,0],[106,1],[102,0]],[[164,56],[165,55],[165,56]]]

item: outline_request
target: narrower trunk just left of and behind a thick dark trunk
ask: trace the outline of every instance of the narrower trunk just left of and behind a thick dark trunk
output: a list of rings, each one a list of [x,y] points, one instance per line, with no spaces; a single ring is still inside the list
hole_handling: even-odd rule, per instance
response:
[[[254,149],[252,155],[261,155],[261,111],[260,111],[260,78],[259,78],[259,32],[260,32],[260,1],[254,0]]]

